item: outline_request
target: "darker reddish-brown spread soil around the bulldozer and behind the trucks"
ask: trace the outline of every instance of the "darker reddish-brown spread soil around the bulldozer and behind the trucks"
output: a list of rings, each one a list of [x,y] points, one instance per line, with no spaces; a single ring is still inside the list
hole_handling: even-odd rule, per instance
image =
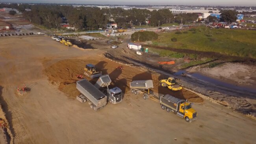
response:
[[[201,97],[185,89],[173,92],[168,88],[161,87],[159,80],[162,79],[163,76],[157,73],[126,65],[123,65],[123,70],[120,70],[117,69],[120,64],[99,57],[95,59],[69,59],[59,61],[46,68],[44,72],[48,76],[49,81],[59,85],[59,90],[69,97],[75,97],[79,94],[78,90],[76,90],[75,82],[78,80],[76,75],[83,75],[83,68],[87,63],[96,65],[96,69],[102,71],[102,74],[109,74],[112,80],[110,87],[119,87],[124,93],[130,92],[129,83],[131,81],[152,79],[154,83],[152,90],[154,90],[154,92],[171,94],[177,98],[187,99],[191,102],[203,102]],[[97,78],[89,79],[93,84],[96,80]]]

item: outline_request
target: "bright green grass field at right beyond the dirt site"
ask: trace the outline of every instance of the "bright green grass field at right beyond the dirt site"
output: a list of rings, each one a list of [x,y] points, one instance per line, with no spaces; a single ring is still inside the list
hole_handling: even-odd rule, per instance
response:
[[[173,37],[177,38],[177,42],[171,41]],[[162,33],[153,44],[256,59],[255,38],[256,31],[253,30],[210,29],[202,26],[195,31],[182,31],[182,34]]]

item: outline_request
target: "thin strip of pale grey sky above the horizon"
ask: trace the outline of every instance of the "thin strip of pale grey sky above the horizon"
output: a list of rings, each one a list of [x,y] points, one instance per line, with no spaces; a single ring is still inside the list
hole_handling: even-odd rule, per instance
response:
[[[256,6],[256,0],[0,0],[14,3],[67,3],[67,4],[150,4],[200,6]]]

